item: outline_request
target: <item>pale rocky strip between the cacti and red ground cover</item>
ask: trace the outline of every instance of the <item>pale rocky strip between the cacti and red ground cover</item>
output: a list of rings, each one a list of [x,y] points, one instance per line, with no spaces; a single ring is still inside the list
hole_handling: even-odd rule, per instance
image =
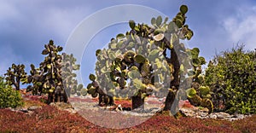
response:
[[[72,101],[71,104],[67,103],[51,103],[50,106],[57,107],[61,110],[66,110],[69,113],[82,113],[87,112],[86,114],[90,114],[91,112],[101,113],[119,113],[122,115],[129,116],[137,116],[137,117],[152,117],[155,113],[159,112],[163,107],[164,99],[156,99],[154,97],[149,97],[145,101],[144,110],[135,109],[133,111],[127,111],[122,104],[113,106],[113,107],[101,107],[97,105],[96,99],[92,99],[91,97],[83,97],[76,98],[76,101]],[[185,106],[183,106],[185,105]],[[203,107],[193,107],[191,105],[188,106],[188,101],[180,102],[180,111],[184,113],[187,117],[197,118],[197,119],[224,119],[224,120],[238,120],[250,117],[251,115],[243,115],[243,114],[229,114],[229,113],[210,113],[208,114],[207,108]],[[17,108],[9,108],[12,111],[22,112],[32,114],[35,109],[41,108],[40,106],[30,106],[30,107],[17,107]],[[96,114],[96,113],[94,113]],[[86,116],[85,116],[86,117]]]

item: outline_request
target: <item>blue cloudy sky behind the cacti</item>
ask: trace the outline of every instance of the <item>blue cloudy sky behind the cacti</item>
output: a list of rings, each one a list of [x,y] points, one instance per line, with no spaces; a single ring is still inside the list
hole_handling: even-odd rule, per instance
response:
[[[194,37],[187,42],[187,46],[201,49],[201,55],[207,61],[221,51],[236,47],[236,44],[245,44],[247,50],[256,49],[254,0],[0,0],[0,75],[12,63],[25,64],[26,72],[29,72],[30,64],[38,66],[44,61],[41,52],[50,39],[65,49],[68,39],[83,20],[102,9],[122,4],[155,9],[170,19],[177,14],[180,5],[188,5],[186,22],[193,30]],[[92,21],[90,27],[119,19],[123,15],[129,16],[131,12],[132,10],[120,11],[117,14],[120,16],[106,14],[101,19]],[[150,13],[145,10],[145,13],[138,14]],[[147,22],[150,20],[148,18]],[[93,38],[89,40],[88,47],[101,49],[111,38],[127,30],[129,26],[125,22],[106,26],[91,35]],[[88,84],[88,73],[94,70],[94,55],[94,50],[84,49],[81,61],[78,62],[81,64],[84,84]]]

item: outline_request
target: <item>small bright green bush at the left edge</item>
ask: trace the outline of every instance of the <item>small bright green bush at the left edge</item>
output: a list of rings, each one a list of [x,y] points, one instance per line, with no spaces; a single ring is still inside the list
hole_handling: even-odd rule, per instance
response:
[[[6,84],[3,77],[0,77],[0,108],[19,107],[23,101],[19,91],[14,90]]]

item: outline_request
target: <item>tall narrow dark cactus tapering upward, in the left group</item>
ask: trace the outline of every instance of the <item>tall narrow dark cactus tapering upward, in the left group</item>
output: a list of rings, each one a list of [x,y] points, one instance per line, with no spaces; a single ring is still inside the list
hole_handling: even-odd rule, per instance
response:
[[[51,101],[65,101],[67,102],[67,95],[63,88],[61,77],[61,60],[62,56],[61,46],[55,46],[52,40],[44,45],[43,55],[47,55],[44,61],[40,63],[41,75],[44,77],[43,92],[49,95],[48,102]]]

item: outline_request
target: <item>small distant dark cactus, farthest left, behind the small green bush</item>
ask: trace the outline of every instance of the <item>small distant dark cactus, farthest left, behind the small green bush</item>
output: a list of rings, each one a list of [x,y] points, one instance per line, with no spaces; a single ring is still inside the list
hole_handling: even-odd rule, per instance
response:
[[[20,90],[20,81],[23,82],[26,79],[25,66],[12,64],[7,72],[4,74],[6,76],[7,83],[9,85],[15,85],[16,90]]]

